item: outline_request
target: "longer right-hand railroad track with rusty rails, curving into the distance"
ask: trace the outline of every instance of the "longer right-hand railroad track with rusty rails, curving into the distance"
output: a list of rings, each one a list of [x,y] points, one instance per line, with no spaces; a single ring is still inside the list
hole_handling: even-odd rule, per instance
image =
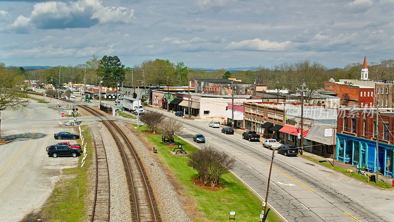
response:
[[[93,115],[99,116],[119,148],[129,186],[129,197],[131,204],[131,220],[137,222],[162,221],[153,195],[152,187],[146,176],[141,160],[135,152],[126,134],[105,115],[88,106],[79,105]]]

